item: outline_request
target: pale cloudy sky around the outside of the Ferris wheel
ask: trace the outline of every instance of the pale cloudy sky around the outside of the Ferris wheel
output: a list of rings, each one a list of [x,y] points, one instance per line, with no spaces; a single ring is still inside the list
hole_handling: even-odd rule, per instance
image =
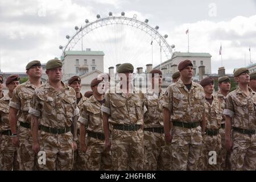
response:
[[[160,34],[168,34],[167,42],[175,44],[175,51],[188,51],[185,31],[189,28],[189,51],[209,52],[213,73],[221,66],[220,44],[226,72],[249,64],[249,47],[256,63],[256,0],[1,0],[1,71],[23,72],[28,61],[46,63],[59,57],[59,46],[67,44],[65,35],[73,35],[74,27],[84,25],[85,19],[105,17],[109,11],[149,19],[150,26],[160,27]],[[106,62],[105,67],[115,65]]]

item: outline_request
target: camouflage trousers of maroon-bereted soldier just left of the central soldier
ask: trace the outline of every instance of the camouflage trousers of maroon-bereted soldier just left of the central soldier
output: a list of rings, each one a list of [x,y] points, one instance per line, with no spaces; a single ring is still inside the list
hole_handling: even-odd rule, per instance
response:
[[[105,141],[86,137],[87,150],[85,152],[86,170],[112,170],[111,152],[105,150]]]

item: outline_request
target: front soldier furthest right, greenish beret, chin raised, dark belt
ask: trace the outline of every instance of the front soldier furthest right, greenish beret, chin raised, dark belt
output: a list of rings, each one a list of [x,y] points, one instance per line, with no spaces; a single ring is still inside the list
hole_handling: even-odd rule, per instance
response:
[[[247,68],[234,72],[238,88],[226,98],[224,114],[226,149],[231,151],[231,169],[256,169],[256,96],[248,87],[250,82]]]

